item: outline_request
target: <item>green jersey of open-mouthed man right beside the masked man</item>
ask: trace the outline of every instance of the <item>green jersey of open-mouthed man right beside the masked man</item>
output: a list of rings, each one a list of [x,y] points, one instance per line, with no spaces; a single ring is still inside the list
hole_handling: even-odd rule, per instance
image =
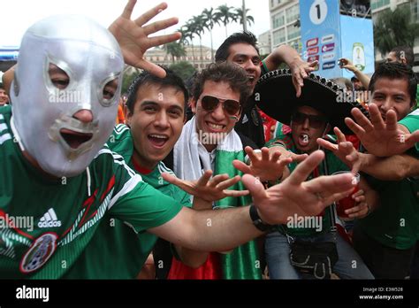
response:
[[[118,125],[107,142],[110,150],[118,152],[126,164],[133,166],[133,136],[130,128]],[[184,206],[191,206],[190,196],[177,186],[164,181],[161,174],[172,173],[160,162],[150,173],[140,173],[142,181],[149,183],[164,195],[171,196]],[[100,236],[99,236],[100,235]],[[124,222],[105,217],[95,237],[88,244],[77,266],[73,266],[65,278],[71,279],[132,279],[141,271],[146,258],[157,241],[148,232],[135,233]]]

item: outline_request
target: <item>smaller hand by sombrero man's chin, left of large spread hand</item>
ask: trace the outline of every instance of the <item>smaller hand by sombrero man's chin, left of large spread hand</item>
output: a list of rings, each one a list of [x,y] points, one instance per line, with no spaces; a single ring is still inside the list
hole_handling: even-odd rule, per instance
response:
[[[339,144],[331,143],[323,138],[317,138],[317,143],[324,149],[331,150],[334,155],[351,168],[353,174],[358,173],[362,166],[361,153],[354,148],[352,142],[347,142],[347,138],[338,127],[333,130],[338,137]]]

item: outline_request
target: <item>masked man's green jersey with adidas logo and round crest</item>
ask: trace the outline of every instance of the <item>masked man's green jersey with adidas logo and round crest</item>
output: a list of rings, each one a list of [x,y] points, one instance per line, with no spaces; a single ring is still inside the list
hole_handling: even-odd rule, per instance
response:
[[[80,256],[104,217],[141,233],[181,210],[107,148],[85,173],[46,177],[23,157],[10,123],[11,107],[0,109],[0,277],[61,278],[84,262]]]

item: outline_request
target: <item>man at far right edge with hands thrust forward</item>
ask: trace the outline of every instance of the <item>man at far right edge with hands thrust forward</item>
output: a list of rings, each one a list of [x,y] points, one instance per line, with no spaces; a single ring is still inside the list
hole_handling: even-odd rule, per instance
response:
[[[406,127],[415,123],[406,117],[415,108],[416,85],[415,73],[407,65],[385,63],[377,67],[369,83],[373,103],[369,110],[374,125],[359,114],[356,118],[365,129],[347,119],[354,132],[361,135],[361,142],[368,141],[368,149],[379,154],[377,149],[385,149],[387,144],[393,146],[392,142],[400,143],[390,135],[387,138],[380,136],[379,133],[385,131],[385,119],[391,120],[394,128],[397,127],[396,120]],[[412,132],[416,128],[415,125],[410,127]],[[347,165],[368,174],[367,180],[380,196],[377,210],[354,227],[354,248],[376,278],[404,279],[409,275],[410,260],[419,238],[417,148],[379,158],[354,150],[342,135],[339,146],[324,141],[321,144],[333,150]]]

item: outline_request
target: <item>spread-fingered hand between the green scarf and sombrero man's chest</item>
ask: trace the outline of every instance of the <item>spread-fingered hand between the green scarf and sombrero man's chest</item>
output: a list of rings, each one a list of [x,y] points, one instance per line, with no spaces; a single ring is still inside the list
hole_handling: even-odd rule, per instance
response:
[[[252,174],[260,181],[275,181],[282,177],[286,165],[293,161],[293,158],[285,157],[280,151],[274,151],[270,155],[268,148],[262,148],[262,154],[256,154],[251,147],[245,148],[250,165],[246,165],[242,161],[235,159],[232,165],[242,173]]]

